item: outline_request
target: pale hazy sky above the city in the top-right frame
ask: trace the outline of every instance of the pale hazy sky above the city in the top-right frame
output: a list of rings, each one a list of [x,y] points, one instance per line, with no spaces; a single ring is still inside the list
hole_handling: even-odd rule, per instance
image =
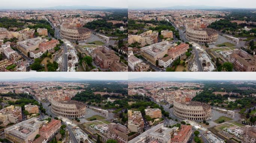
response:
[[[129,7],[170,7],[170,6],[223,6],[256,8],[256,0],[128,0]]]

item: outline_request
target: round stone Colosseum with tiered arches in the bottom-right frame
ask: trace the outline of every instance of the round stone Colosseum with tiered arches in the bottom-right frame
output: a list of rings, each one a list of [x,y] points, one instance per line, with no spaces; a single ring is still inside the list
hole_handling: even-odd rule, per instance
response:
[[[179,99],[176,99],[173,101],[173,108],[174,115],[188,120],[207,120],[211,115],[210,105],[196,101],[182,102]]]

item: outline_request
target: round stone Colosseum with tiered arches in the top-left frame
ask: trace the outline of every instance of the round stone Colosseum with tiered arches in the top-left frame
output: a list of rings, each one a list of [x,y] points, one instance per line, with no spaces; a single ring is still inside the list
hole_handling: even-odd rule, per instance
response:
[[[83,42],[91,35],[91,31],[88,28],[76,27],[69,23],[63,23],[60,32],[61,38],[77,42]]]

